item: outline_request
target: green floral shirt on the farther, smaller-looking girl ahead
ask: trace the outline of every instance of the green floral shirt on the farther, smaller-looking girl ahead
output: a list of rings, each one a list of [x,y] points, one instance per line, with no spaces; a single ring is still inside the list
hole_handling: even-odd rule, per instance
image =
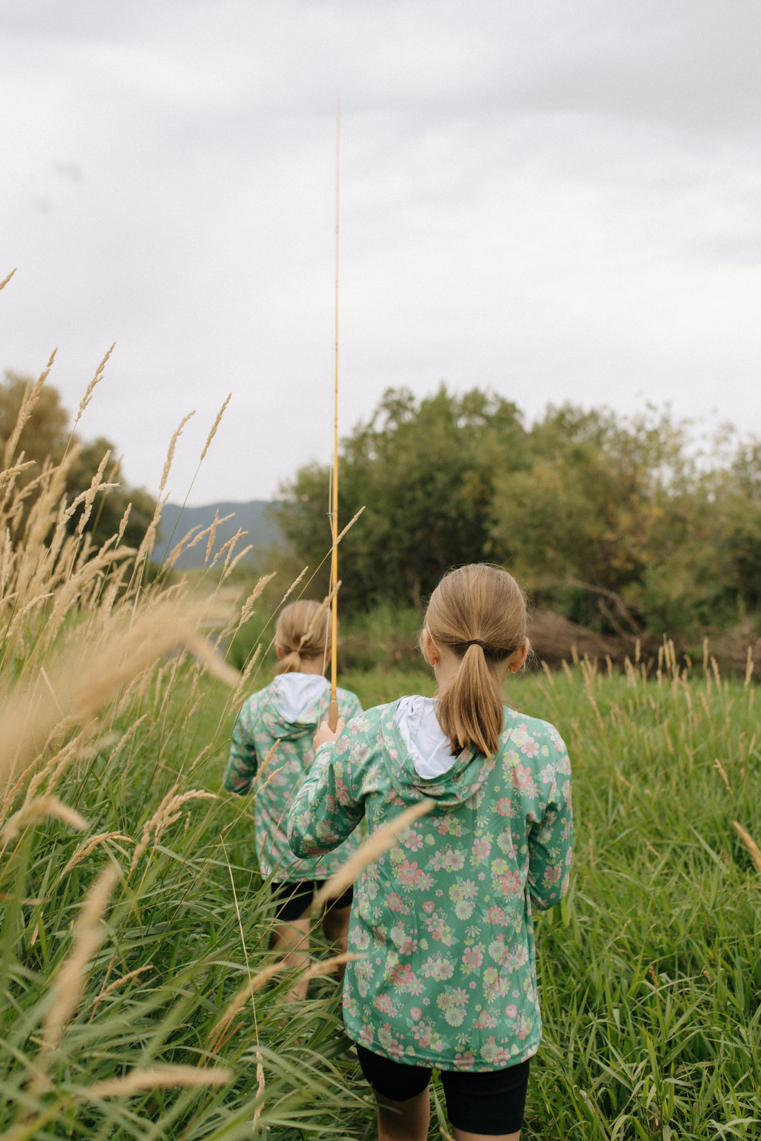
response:
[[[356,694],[339,687],[339,712],[347,719],[362,711]],[[229,758],[225,769],[225,788],[241,795],[254,793],[254,842],[261,875],[276,882],[326,880],[356,851],[359,836],[350,836],[345,844],[322,859],[299,859],[291,850],[285,833],[285,820],[293,790],[309,768],[314,751],[311,738],[326,707],[315,705],[298,721],[288,721],[281,713],[274,685],[252,694],[233,729]],[[252,782],[273,744],[277,748]]]

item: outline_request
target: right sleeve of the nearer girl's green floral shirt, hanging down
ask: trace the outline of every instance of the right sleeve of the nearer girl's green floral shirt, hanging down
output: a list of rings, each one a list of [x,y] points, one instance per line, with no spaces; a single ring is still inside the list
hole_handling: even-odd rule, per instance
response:
[[[570,761],[559,737],[550,748],[554,756],[541,772],[544,812],[528,833],[528,891],[540,911],[567,893],[573,851]]]

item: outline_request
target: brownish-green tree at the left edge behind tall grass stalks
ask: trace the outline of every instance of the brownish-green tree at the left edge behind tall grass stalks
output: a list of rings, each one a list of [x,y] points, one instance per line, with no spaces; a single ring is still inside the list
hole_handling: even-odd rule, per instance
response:
[[[0,383],[0,455],[10,439],[18,413],[31,390],[33,381],[14,372],[7,372]],[[60,403],[60,394],[51,385],[40,389],[29,420],[22,429],[15,458],[24,453],[24,460],[32,460],[33,466],[21,472],[16,478],[21,486],[27,486],[40,474],[42,466],[49,461],[58,464],[71,448],[79,452],[71,464],[66,479],[66,499],[71,503],[76,495],[90,486],[103,456],[111,452],[111,458],[104,472],[104,482],[119,483],[119,487],[98,493],[86,529],[90,532],[96,545],[103,543],[119,529],[122,516],[131,503],[131,510],[124,531],[124,542],[139,545],[155,511],[155,500],[143,488],[129,487],[119,477],[119,461],[115,456],[115,445],[105,437],[82,444],[72,434],[70,416]],[[74,529],[79,519],[75,512],[70,520]],[[23,520],[19,519],[19,527]],[[18,529],[18,528],[17,528]]]

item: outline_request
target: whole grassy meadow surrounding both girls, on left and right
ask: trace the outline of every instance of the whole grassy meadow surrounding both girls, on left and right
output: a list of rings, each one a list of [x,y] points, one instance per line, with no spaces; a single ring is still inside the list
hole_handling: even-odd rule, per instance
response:
[[[151,533],[91,549],[60,470],[32,496],[14,462],[0,477],[1,1136],[372,1138],[331,952],[314,937],[309,997],[285,1010],[251,803],[221,790],[237,710],[269,680],[273,584],[230,606],[233,544],[205,585],[170,567],[148,585]],[[94,484],[86,510],[105,494]],[[237,670],[225,655],[243,628]],[[570,893],[536,920],[544,1039],[525,1138],[761,1135],[751,666],[723,679],[710,647],[693,665],[666,640],[624,673],[537,664],[507,694],[566,738],[576,815]],[[365,705],[431,693],[394,662],[341,683]],[[446,1138],[438,1095],[436,1109],[431,1138]]]

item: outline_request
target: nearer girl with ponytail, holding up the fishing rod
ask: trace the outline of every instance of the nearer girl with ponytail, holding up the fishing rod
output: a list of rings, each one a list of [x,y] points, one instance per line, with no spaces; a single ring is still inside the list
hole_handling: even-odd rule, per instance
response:
[[[557,904],[570,864],[570,766],[557,730],[502,704],[529,649],[507,572],[445,575],[421,638],[438,697],[323,722],[296,792],[300,856],[367,835],[423,796],[436,807],[369,865],[351,911],[347,1034],[378,1102],[380,1141],[426,1141],[431,1068],[458,1141],[518,1141],[541,1020],[532,905]]]

